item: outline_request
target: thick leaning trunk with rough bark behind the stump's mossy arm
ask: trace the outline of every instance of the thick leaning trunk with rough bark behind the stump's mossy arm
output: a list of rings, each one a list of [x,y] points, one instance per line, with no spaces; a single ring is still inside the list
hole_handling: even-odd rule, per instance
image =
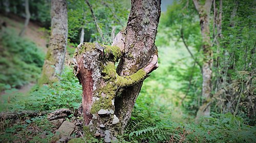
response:
[[[117,68],[120,76],[136,73],[147,65],[153,55],[157,55],[155,38],[161,14],[160,5],[160,0],[132,0],[127,26],[112,44],[118,45],[124,51]],[[122,121],[121,133],[131,118],[142,82],[119,90],[119,96],[115,98],[115,114]]]

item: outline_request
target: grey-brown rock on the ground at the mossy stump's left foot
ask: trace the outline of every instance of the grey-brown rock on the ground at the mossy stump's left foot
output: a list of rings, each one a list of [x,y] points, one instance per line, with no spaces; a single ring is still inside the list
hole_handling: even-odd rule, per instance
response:
[[[75,130],[75,124],[64,121],[61,126],[56,130],[55,135],[58,137],[70,136]]]

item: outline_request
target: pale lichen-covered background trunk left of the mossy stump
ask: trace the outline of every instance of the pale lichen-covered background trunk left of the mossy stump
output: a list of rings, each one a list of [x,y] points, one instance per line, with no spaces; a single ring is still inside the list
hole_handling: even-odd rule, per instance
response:
[[[68,40],[68,12],[66,0],[51,1],[51,39],[39,84],[59,79],[65,61]]]

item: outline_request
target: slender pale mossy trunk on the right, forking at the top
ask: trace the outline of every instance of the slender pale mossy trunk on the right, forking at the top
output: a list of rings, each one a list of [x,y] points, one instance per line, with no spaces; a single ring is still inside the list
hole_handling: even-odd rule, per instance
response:
[[[203,85],[202,85],[202,97],[204,102],[210,98],[211,93],[211,76],[212,76],[212,50],[211,50],[211,41],[210,41],[210,30],[209,30],[209,16],[210,9],[212,5],[212,0],[206,0],[204,5],[201,5],[198,0],[193,0],[194,5],[199,13],[200,17],[200,26],[201,26],[201,35],[203,43]],[[204,111],[198,111],[196,122],[202,116],[210,115],[210,106],[208,106]]]

